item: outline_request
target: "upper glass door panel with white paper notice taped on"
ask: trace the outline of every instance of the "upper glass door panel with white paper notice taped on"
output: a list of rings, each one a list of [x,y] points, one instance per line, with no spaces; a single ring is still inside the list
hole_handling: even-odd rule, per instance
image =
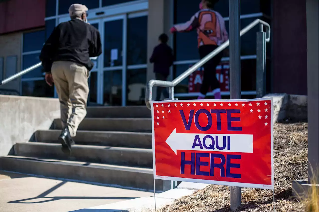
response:
[[[123,19],[104,23],[104,67],[122,66]]]

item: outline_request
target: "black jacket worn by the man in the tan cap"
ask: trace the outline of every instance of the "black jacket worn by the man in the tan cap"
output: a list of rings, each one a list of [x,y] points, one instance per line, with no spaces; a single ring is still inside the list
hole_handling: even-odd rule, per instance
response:
[[[45,42],[40,60],[45,72],[51,71],[54,61],[72,61],[91,70],[94,66],[90,57],[102,53],[99,31],[81,19],[73,19],[57,25]]]

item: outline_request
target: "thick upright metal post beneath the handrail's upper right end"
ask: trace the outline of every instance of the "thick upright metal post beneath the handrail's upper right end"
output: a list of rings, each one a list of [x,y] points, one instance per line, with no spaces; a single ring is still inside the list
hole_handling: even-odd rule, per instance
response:
[[[266,32],[257,32],[256,47],[256,97],[262,98],[265,95]]]

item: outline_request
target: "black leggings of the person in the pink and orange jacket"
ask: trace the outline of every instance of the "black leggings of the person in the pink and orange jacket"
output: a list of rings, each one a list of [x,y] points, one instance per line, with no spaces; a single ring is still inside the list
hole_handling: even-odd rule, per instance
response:
[[[198,48],[200,59],[203,59],[207,54],[214,51],[218,46],[216,45],[203,45]],[[216,66],[220,63],[221,58],[223,57],[223,52],[218,53],[215,57],[209,60],[203,65],[204,67],[204,76],[203,83],[200,88],[201,94],[206,95],[211,86],[211,89],[220,88],[219,81],[216,78]]]

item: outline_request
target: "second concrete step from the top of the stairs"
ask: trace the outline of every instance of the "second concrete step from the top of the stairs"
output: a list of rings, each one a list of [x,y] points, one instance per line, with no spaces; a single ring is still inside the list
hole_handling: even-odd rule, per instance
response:
[[[61,119],[54,120],[55,129],[61,130]],[[78,130],[152,132],[151,118],[85,118]]]

